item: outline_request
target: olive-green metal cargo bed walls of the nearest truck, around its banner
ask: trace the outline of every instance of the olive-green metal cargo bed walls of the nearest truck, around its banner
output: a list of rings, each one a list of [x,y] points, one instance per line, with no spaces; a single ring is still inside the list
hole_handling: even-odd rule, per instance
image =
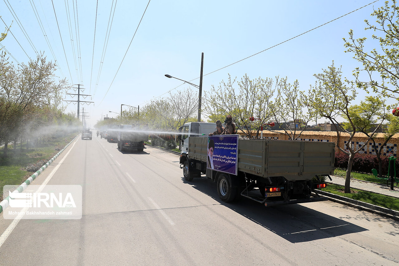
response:
[[[190,137],[188,155],[206,163],[207,138]],[[239,139],[238,171],[259,177],[310,180],[334,173],[335,144],[312,141]]]

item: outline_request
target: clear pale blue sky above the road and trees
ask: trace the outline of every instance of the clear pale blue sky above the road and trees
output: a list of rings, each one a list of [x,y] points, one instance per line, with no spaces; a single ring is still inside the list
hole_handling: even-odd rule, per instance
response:
[[[115,16],[96,87],[111,4],[115,5],[115,2]],[[101,115],[116,115],[109,111],[119,112],[120,104],[142,107],[151,99],[182,84],[177,79],[166,78],[164,74],[188,81],[194,79],[192,83],[199,84],[201,52],[204,53],[205,75],[371,2],[373,1],[151,0],[132,40],[148,0],[99,0],[98,5],[97,0],[53,0],[55,14],[51,0],[3,0],[0,1],[0,16],[7,25],[14,21],[11,32],[15,38],[8,34],[1,44],[18,62],[28,62],[28,56],[36,58],[34,49],[8,9],[11,7],[35,48],[44,52],[47,59],[55,60],[31,6],[34,4],[60,67],[56,74],[66,77],[70,83],[83,84],[83,93],[93,95],[85,100],[94,101],[94,105],[82,107],[88,108],[86,110],[91,115],[90,124],[94,125],[101,119]],[[352,70],[359,63],[352,58],[353,54],[344,53],[342,38],[347,38],[351,29],[356,38],[369,37],[372,32],[364,30],[364,20],[374,21],[370,16],[373,8],[377,9],[383,4],[384,1],[379,0],[289,42],[205,75],[203,91],[209,91],[212,85],[219,85],[222,79],[227,79],[228,74],[239,78],[247,74],[251,79],[287,76],[291,83],[298,79],[300,89],[307,90],[316,80],[313,74],[320,73],[332,60],[336,66],[342,65],[345,77],[352,78]],[[69,6],[75,54],[65,5]],[[79,19],[80,42],[77,42],[75,34],[74,10],[75,20],[76,11]],[[0,24],[4,29],[6,25],[2,21]],[[78,64],[76,70],[76,51],[79,44],[81,67]],[[82,77],[79,74],[80,69]],[[186,87],[187,84],[178,89]],[[192,89],[196,90],[194,87]],[[358,101],[364,96],[365,93],[359,91]],[[76,109],[76,105],[72,103],[67,108]]]

